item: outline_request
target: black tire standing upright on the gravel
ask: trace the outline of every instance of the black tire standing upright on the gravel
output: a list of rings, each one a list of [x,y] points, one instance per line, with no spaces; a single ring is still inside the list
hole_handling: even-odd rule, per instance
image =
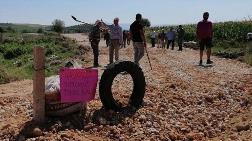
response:
[[[114,78],[121,72],[127,72],[133,79],[133,92],[130,96],[129,105],[139,108],[143,102],[145,94],[145,77],[142,69],[133,62],[121,61],[115,62],[107,67],[103,72],[100,85],[99,95],[104,108],[108,110],[120,111],[122,107],[118,104],[112,94],[112,84]]]

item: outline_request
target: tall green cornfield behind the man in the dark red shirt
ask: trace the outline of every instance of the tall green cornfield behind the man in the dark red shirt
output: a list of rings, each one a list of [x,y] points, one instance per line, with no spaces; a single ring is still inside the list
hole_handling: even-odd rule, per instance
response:
[[[185,41],[197,41],[196,24],[183,25],[185,29]],[[151,27],[147,29],[147,36],[151,30],[161,32],[168,31],[174,26]],[[252,32],[252,21],[230,21],[214,23],[213,54],[230,59],[239,59],[252,65],[252,43],[247,41],[247,33]]]

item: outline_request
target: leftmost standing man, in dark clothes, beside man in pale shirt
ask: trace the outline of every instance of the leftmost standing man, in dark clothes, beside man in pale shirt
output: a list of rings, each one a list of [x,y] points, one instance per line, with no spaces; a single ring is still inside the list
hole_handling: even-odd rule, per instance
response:
[[[100,42],[100,34],[101,30],[100,27],[102,26],[102,22],[100,20],[97,20],[95,22],[95,26],[92,28],[91,32],[89,33],[89,41],[91,43],[91,47],[93,49],[94,54],[94,67],[99,67],[98,63],[98,56],[99,56],[99,42]]]

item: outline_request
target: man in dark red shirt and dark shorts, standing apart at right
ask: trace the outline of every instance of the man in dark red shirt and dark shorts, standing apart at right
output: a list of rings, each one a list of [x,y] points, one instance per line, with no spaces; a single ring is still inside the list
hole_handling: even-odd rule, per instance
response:
[[[199,65],[202,65],[202,57],[203,51],[206,47],[207,49],[207,64],[212,64],[213,61],[210,60],[211,56],[211,47],[212,45],[212,38],[213,38],[213,26],[212,22],[208,21],[209,13],[205,12],[203,14],[203,20],[200,21],[197,25],[197,37],[199,39],[200,45],[200,62]]]

